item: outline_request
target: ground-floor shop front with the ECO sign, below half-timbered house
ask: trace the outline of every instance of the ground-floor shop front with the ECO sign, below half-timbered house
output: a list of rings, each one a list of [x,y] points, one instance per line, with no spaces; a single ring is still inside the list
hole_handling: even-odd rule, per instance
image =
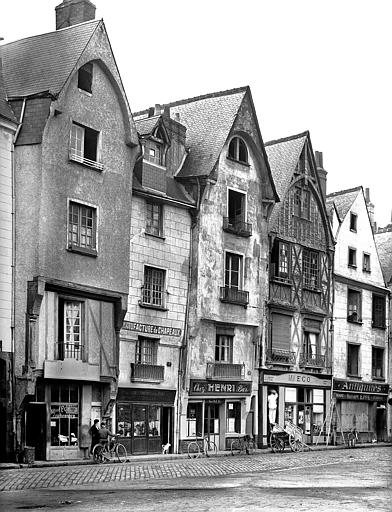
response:
[[[284,427],[287,421],[302,429],[306,444],[325,442],[331,385],[332,378],[327,375],[262,371],[259,431],[263,445],[268,445],[271,424]]]

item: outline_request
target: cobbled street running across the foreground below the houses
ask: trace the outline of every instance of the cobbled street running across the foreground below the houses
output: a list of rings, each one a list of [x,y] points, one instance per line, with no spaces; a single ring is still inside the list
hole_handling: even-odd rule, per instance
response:
[[[389,511],[391,467],[392,448],[374,447],[4,470],[0,500],[7,512]]]

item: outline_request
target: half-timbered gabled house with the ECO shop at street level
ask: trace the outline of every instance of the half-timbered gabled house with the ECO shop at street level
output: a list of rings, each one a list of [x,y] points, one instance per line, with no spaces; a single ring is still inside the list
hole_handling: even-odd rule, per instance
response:
[[[269,225],[267,336],[260,371],[260,426],[293,422],[306,443],[323,442],[332,382],[334,242],[326,171],[308,132],[266,143],[280,197]],[[274,395],[275,398],[270,398]]]

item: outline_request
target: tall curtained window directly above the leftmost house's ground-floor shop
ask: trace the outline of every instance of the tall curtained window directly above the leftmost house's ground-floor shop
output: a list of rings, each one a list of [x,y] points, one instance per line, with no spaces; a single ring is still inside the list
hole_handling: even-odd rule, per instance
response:
[[[84,359],[81,301],[59,299],[57,359]]]

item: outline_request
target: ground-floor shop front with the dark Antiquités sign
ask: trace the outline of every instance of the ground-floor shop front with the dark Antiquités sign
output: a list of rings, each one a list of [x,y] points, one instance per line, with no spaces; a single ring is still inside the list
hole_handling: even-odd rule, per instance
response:
[[[387,440],[388,390],[388,384],[334,379],[337,442],[353,428],[361,442]]]

